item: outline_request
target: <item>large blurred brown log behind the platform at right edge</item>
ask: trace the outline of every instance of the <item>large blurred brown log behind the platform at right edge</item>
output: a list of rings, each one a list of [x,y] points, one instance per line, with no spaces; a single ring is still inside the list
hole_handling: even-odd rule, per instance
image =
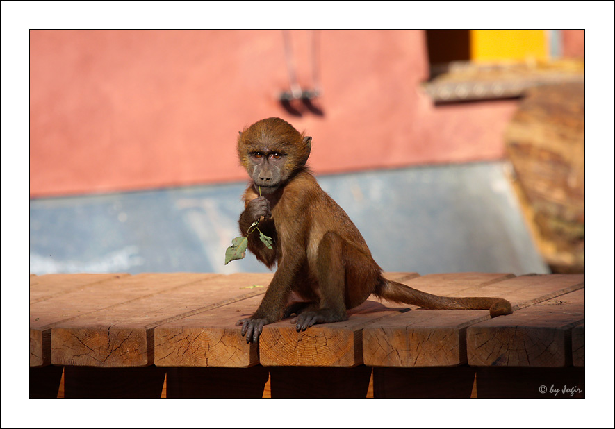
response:
[[[584,83],[528,91],[505,140],[543,258],[554,272],[584,272]]]

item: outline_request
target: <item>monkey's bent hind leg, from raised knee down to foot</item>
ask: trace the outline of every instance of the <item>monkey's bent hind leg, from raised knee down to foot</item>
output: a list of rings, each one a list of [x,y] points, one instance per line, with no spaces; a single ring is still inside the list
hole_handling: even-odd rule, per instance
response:
[[[326,233],[318,245],[316,276],[320,286],[320,305],[304,310],[297,317],[297,332],[315,323],[333,323],[348,319],[345,295],[345,267],[343,238],[333,232]]]

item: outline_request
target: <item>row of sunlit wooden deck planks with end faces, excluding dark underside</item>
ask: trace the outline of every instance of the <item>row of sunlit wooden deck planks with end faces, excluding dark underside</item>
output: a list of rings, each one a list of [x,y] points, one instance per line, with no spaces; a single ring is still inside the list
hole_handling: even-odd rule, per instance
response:
[[[584,366],[582,274],[387,276],[435,294],[502,296],[516,311],[489,319],[487,310],[370,299],[347,321],[297,333],[285,319],[247,344],[235,323],[256,310],[272,274],[30,276],[39,294],[30,305],[31,365],[454,367],[474,353],[482,360],[473,365]]]

